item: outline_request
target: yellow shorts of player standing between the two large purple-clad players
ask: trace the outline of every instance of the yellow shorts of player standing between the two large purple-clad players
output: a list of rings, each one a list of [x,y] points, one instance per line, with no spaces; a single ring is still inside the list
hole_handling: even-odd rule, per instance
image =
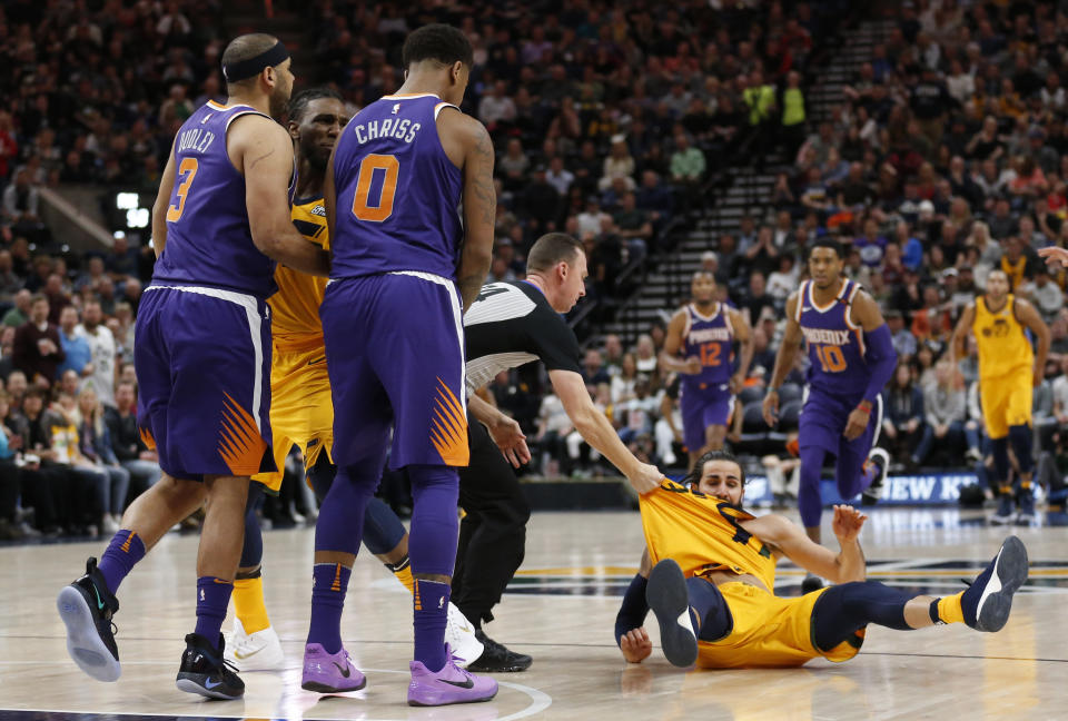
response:
[[[286,456],[300,446],[306,468],[334,444],[334,404],[326,355],[322,347],[283,352],[275,348],[270,366],[270,432],[276,473],[253,476],[271,492],[281,487]]]

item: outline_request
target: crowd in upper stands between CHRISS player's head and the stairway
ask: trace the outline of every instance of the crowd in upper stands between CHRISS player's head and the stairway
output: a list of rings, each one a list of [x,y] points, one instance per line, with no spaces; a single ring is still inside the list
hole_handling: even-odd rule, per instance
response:
[[[611,302],[631,289],[624,268],[669,247],[738,140],[780,116],[803,122],[789,88],[848,6],[324,0],[312,23],[319,77],[353,107],[399,87],[411,29],[461,27],[475,49],[463,108],[498,152],[491,277],[522,274],[533,241],[563,229],[585,244],[590,296]]]

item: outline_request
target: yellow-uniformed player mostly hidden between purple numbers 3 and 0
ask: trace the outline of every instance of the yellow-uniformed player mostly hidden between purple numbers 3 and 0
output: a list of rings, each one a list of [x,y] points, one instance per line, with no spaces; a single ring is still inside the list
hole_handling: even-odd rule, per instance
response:
[[[293,225],[309,241],[329,249],[323,177],[330,150],[348,115],[342,97],[328,88],[312,88],[293,97],[287,110],[287,129],[294,141],[297,187],[293,200]],[[273,312],[274,343],[270,374],[270,426],[277,472],[253,476],[245,514],[245,546],[234,582],[234,631],[226,659],[239,671],[280,670],[285,666],[281,642],[267,615],[261,577],[263,536],[257,508],[263,492],[278,493],[286,456],[294,445],[304,453],[305,467],[322,501],[333,481],[329,448],[334,443],[334,405],[323,347],[319,304],[326,278],[279,265],[275,271],[278,292],[268,298]],[[364,543],[397,579],[412,589],[404,525],[383,502],[374,500],[367,510],[368,532]],[[372,530],[374,532],[372,532]],[[466,661],[482,653],[469,623],[449,608],[449,642]],[[464,629],[468,629],[464,633]]]

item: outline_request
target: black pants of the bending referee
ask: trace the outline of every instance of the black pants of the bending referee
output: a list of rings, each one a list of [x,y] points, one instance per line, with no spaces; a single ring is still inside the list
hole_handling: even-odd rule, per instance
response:
[[[493,620],[490,610],[523,563],[531,510],[512,465],[474,419],[468,444],[471,464],[459,470],[459,505],[466,515],[459,524],[452,600],[481,626]]]

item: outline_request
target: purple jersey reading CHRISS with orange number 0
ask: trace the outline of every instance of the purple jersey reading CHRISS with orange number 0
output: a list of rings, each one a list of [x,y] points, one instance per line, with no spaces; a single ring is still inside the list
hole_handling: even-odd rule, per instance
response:
[[[463,177],[437,137],[435,95],[385,96],[357,112],[334,151],[333,278],[417,270],[454,278]]]

